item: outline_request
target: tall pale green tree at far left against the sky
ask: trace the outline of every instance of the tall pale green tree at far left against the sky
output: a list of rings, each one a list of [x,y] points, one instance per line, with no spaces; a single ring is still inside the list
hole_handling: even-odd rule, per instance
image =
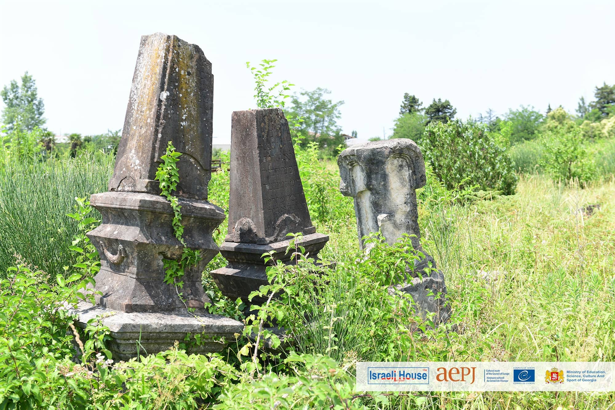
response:
[[[4,86],[0,96],[6,108],[2,111],[2,123],[6,126],[7,134],[16,128],[23,131],[34,131],[45,124],[42,117],[45,105],[42,98],[38,98],[36,81],[28,71],[22,76],[21,86],[12,80],[9,86]]]

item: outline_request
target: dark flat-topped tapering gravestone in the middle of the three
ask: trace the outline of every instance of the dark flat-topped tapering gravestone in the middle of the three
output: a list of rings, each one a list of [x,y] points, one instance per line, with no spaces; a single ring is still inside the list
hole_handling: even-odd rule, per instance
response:
[[[310,257],[317,257],[329,240],[312,226],[284,113],[278,108],[235,111],[229,228],[220,246],[229,263],[212,271],[220,291],[247,303],[250,292],[268,283],[262,255],[274,251],[274,259],[293,263],[285,254],[286,235],[298,232]]]

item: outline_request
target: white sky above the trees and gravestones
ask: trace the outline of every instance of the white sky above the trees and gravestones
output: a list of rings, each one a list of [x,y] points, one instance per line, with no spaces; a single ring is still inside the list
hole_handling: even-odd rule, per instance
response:
[[[254,108],[245,62],[277,58],[273,79],[344,100],[341,126],[391,134],[404,92],[448,98],[458,116],[520,104],[574,111],[615,82],[610,1],[0,0],[0,85],[28,70],[57,134],[119,129],[140,36],[198,44],[213,64],[214,143]]]

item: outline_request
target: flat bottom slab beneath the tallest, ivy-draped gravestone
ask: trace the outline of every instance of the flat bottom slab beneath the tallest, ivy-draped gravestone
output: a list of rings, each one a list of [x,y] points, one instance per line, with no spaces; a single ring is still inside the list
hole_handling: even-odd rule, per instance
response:
[[[190,315],[183,312],[125,313],[81,302],[69,310],[78,316],[76,326],[84,329],[87,322],[102,316],[101,324],[111,331],[113,340],[108,343],[114,360],[129,360],[139,355],[149,355],[168,350],[177,340],[188,345],[188,353],[220,352],[244,325],[239,321],[218,315]],[[185,341],[187,334],[190,340]],[[200,334],[201,344],[194,343],[194,334]]]

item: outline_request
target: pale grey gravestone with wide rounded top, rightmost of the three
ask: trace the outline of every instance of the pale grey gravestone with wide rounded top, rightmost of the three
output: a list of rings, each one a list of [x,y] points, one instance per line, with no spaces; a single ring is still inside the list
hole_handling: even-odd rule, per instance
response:
[[[445,304],[444,276],[435,270],[434,259],[425,254],[419,242],[421,230],[415,190],[426,183],[425,162],[419,147],[408,139],[353,145],[339,155],[338,166],[339,190],[354,198],[361,249],[365,247],[363,236],[372,232],[380,231],[389,244],[394,244],[404,233],[416,235],[411,239],[412,245],[425,257],[407,269],[407,282],[395,288],[411,294],[424,312],[435,312],[440,321],[447,320],[450,307]],[[427,267],[433,270],[427,272]]]

